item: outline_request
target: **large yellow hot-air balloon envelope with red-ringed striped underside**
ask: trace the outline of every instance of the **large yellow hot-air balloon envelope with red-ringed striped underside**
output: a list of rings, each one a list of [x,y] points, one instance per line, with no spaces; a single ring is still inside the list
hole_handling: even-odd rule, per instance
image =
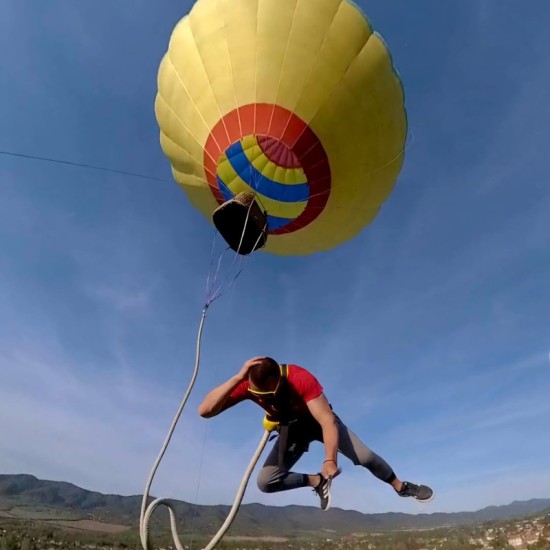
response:
[[[172,33],[155,112],[192,204],[211,219],[252,191],[276,254],[357,235],[403,163],[401,82],[348,0],[198,0]]]

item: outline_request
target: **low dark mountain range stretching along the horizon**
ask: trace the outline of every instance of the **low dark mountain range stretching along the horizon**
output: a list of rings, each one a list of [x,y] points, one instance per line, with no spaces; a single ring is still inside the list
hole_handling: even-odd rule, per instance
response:
[[[212,533],[227,517],[230,507],[195,505],[171,501],[180,532]],[[38,479],[29,474],[0,474],[0,519],[45,521],[92,519],[106,524],[137,527],[141,496],[105,495],[63,481]],[[308,506],[265,506],[244,504],[231,527],[233,535],[268,536],[311,533],[315,530],[349,534],[397,529],[429,529],[472,525],[487,521],[525,517],[550,511],[550,499],[515,501],[489,506],[476,512],[404,514],[363,514],[332,508],[322,512]],[[166,513],[153,515],[151,528],[165,530]]]

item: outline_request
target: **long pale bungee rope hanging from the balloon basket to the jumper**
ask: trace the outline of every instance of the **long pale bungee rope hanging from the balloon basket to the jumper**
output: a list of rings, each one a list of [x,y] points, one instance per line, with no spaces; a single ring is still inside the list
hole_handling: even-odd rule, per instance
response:
[[[246,223],[245,223],[246,227]],[[243,228],[243,234],[244,234],[244,228]],[[207,277],[206,282],[206,300],[205,305],[202,310],[200,323],[199,323],[199,329],[197,334],[197,343],[196,343],[196,353],[195,353],[195,367],[193,369],[193,374],[191,376],[191,380],[189,382],[189,386],[187,387],[187,390],[185,391],[185,395],[183,396],[183,399],[181,400],[181,403],[178,407],[178,410],[176,412],[176,415],[174,417],[174,420],[172,421],[172,424],[170,425],[170,429],[168,430],[168,434],[166,436],[166,439],[164,440],[164,443],[162,445],[162,448],[155,460],[155,463],[153,464],[153,467],[151,469],[151,472],[149,474],[149,478],[147,479],[147,483],[145,484],[145,490],[143,491],[143,498],[141,501],[141,511],[140,511],[140,517],[139,517],[139,536],[141,540],[141,545],[143,546],[144,550],[151,550],[151,545],[149,544],[149,521],[151,519],[151,516],[153,512],[158,508],[159,506],[166,506],[168,508],[168,512],[170,515],[170,529],[172,531],[172,538],[174,541],[174,545],[176,546],[177,550],[184,550],[184,547],[179,539],[178,531],[177,531],[177,520],[176,515],[174,512],[174,508],[172,504],[170,503],[169,499],[166,498],[157,498],[153,500],[149,505],[147,505],[147,501],[149,500],[149,493],[151,490],[151,486],[153,484],[153,479],[156,475],[156,472],[160,466],[160,463],[164,457],[164,454],[166,453],[166,450],[168,449],[168,445],[172,439],[172,436],[174,434],[174,431],[176,429],[176,426],[178,424],[178,421],[181,417],[181,414],[183,413],[183,409],[185,408],[185,405],[187,403],[187,400],[189,399],[189,396],[191,395],[191,391],[193,390],[193,387],[195,385],[195,381],[197,379],[197,375],[199,372],[199,365],[200,365],[200,355],[201,355],[201,341],[202,341],[202,333],[204,329],[204,323],[206,321],[206,313],[208,311],[208,308],[214,302],[214,300],[218,299],[222,294],[222,289],[224,284],[227,282],[227,280],[222,280],[222,282],[218,285],[216,290],[214,290],[214,286],[216,285],[217,278],[220,272],[220,266],[222,258],[227,252],[228,249],[225,249],[220,257],[218,258],[218,263],[216,267],[216,272],[214,273],[214,276],[211,277],[212,272],[212,265],[213,265],[213,259],[214,259],[214,248],[215,248],[215,238],[216,235],[214,234],[214,239],[212,243],[212,251],[210,256],[210,268],[209,273]],[[242,236],[241,236],[241,244],[242,244]],[[256,242],[256,245],[258,242]],[[240,247],[240,244],[239,244]],[[240,256],[239,254],[235,254],[235,256]],[[235,264],[235,259],[233,258],[232,266]],[[240,262],[243,261],[242,256],[240,256]],[[239,265],[239,270],[237,274],[229,281],[228,288],[231,287],[234,282],[236,281],[237,277],[241,274],[243,270],[243,266]],[[214,548],[218,542],[222,539],[222,537],[225,535],[226,531],[231,526],[231,523],[235,519],[235,516],[237,515],[237,512],[239,510],[240,504],[242,502],[244,492],[246,490],[246,486],[248,485],[248,481],[250,479],[250,476],[252,475],[252,471],[254,470],[254,467],[256,466],[256,463],[258,462],[258,459],[260,455],[262,454],[262,451],[265,448],[265,445],[269,438],[269,432],[266,431],[261,440],[258,444],[258,447],[256,451],[254,452],[252,459],[248,465],[248,468],[246,469],[244,476],[241,480],[241,484],[239,486],[239,489],[237,491],[237,494],[235,496],[235,500],[233,501],[233,505],[231,507],[231,510],[229,511],[229,515],[227,516],[227,519],[219,529],[219,531],[216,533],[214,538],[210,541],[210,543],[205,547],[204,550],[211,550]]]

